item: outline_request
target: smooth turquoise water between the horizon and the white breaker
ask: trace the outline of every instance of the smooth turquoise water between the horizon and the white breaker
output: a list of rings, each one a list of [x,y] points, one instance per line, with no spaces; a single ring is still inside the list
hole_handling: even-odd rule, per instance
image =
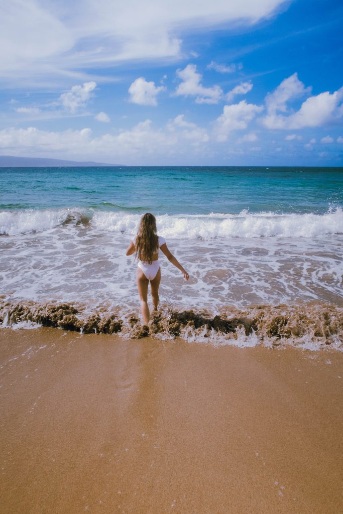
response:
[[[0,191],[9,210],[322,214],[343,204],[343,169],[2,168]]]

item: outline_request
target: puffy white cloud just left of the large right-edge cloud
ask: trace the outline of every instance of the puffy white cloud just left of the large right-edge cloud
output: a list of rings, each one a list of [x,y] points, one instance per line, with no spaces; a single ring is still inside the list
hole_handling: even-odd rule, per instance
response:
[[[263,107],[241,100],[237,104],[224,105],[223,114],[216,119],[215,132],[218,141],[226,141],[234,130],[243,130],[262,111]]]

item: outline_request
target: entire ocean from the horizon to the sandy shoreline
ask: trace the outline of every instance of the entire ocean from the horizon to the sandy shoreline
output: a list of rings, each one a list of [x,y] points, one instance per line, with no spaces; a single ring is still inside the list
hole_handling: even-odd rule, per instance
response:
[[[152,212],[190,274],[160,255],[155,337],[343,349],[343,168],[2,168],[0,193],[2,326],[139,337]]]

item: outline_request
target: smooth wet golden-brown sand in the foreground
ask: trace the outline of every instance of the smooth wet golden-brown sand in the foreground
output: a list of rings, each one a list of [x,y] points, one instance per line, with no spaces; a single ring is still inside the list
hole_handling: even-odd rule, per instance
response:
[[[343,354],[0,331],[1,512],[338,514]]]

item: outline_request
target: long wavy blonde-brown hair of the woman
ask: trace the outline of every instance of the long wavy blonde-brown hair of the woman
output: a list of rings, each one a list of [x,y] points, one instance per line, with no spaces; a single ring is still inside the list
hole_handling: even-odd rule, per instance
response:
[[[152,264],[153,256],[158,250],[156,218],[150,212],[140,219],[135,241],[135,255],[143,262]]]

